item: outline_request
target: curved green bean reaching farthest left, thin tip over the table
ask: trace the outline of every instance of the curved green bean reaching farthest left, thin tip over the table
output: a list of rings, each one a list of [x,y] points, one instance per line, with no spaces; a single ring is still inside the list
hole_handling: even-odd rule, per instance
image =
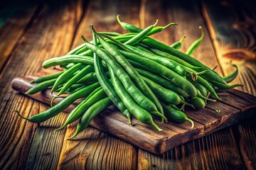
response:
[[[58,115],[58,113],[64,111],[65,108],[68,108],[68,106],[70,106],[70,104],[72,104],[75,100],[87,96],[87,94],[90,94],[99,86],[100,84],[98,82],[95,84],[91,84],[90,86],[86,86],[84,89],[81,89],[74,94],[70,94],[68,97],[64,98],[63,101],[60,101],[60,103],[53,106],[52,108],[49,108],[47,111],[39,113],[38,115],[33,115],[30,118],[24,117],[18,111],[16,111],[16,113],[18,113],[21,118],[24,118],[31,123],[42,123],[50,118],[53,118],[55,115]]]

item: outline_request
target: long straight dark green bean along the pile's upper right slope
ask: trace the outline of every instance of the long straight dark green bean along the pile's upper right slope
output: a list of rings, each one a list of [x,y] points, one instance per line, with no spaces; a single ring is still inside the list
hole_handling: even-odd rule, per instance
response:
[[[212,79],[213,81],[217,81],[221,84],[226,84],[226,82],[218,75],[216,72],[214,72],[212,69],[208,68],[206,65],[202,64],[195,58],[186,55],[183,52],[180,52],[178,50],[175,50],[172,47],[169,47],[168,45],[165,45],[158,40],[155,40],[153,38],[146,37],[142,41],[142,44],[147,45],[149,47],[157,48],[159,50],[162,50],[164,52],[169,52],[171,55],[174,55],[176,57],[179,57],[181,60],[184,60],[190,64],[193,64],[196,67],[201,67],[203,70],[209,70],[208,73],[204,74],[204,77],[208,77],[208,79]]]

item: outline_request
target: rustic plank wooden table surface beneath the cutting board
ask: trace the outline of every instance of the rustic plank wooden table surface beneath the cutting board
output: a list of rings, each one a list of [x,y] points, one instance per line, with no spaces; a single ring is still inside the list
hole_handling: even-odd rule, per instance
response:
[[[205,38],[194,57],[222,75],[240,75],[233,83],[256,95],[255,6],[250,1],[48,1],[28,4],[0,2],[0,169],[256,169],[255,119],[211,133],[161,155],[151,154],[94,128],[83,140],[68,141],[75,126],[53,133],[67,117],[36,125],[22,120],[48,106],[11,89],[14,77],[35,74],[44,60],[64,55],[80,45],[80,35],[91,39],[89,25],[97,30],[125,33],[115,16],[142,28],[159,19],[159,26],[176,22],[153,37],[167,44],[187,38],[181,47]]]

